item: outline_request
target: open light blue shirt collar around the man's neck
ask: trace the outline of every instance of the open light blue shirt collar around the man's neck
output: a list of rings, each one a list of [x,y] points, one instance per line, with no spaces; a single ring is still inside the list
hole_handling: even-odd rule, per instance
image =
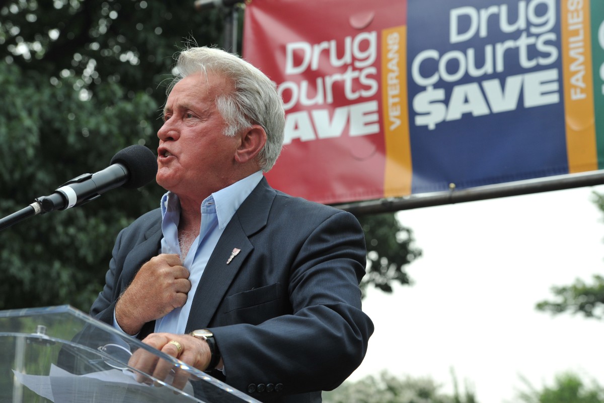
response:
[[[208,196],[201,204],[201,212],[213,213],[216,210],[218,218],[218,227],[223,229],[231,221],[233,215],[243,203],[243,201],[252,193],[252,190],[262,180],[262,170],[252,173],[252,175],[235,182],[234,184],[220,189]],[[214,207],[214,208],[212,208]],[[180,202],[178,196],[172,192],[166,192],[161,198],[161,216],[162,219],[166,213],[175,212],[180,215]],[[178,223],[177,223],[178,225]]]

